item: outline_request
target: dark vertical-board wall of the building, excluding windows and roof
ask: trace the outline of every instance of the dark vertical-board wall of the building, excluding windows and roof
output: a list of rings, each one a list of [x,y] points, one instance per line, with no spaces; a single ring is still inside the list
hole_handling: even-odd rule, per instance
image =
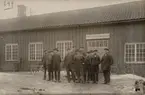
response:
[[[19,55],[23,59],[22,70],[29,70],[30,64],[39,62],[28,61],[29,42],[43,42],[44,49],[53,49],[56,47],[56,41],[72,40],[73,44],[79,48],[86,47],[86,34],[110,33],[109,48],[114,58],[113,71],[116,73],[130,73],[132,67],[138,75],[145,75],[145,64],[126,64],[124,63],[124,45],[126,42],[145,42],[145,23],[127,23],[102,26],[87,26],[75,28],[59,28],[33,31],[19,31],[1,34],[4,40],[0,41],[2,47],[0,51],[1,68],[13,70],[15,62],[6,62],[4,60],[4,44],[18,43]]]

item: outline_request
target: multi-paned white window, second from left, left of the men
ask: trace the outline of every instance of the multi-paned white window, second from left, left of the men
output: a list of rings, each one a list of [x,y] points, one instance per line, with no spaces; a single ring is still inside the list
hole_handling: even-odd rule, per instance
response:
[[[29,61],[41,61],[43,57],[43,43],[36,42],[29,44]]]

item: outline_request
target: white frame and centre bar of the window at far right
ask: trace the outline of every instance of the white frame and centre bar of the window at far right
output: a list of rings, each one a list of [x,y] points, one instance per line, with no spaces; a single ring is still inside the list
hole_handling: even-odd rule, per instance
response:
[[[124,45],[124,62],[127,63],[127,64],[143,64],[145,63],[145,61],[137,61],[137,44],[145,44],[145,42],[140,42],[140,43],[125,43]],[[126,45],[135,45],[135,61],[132,61],[132,62],[126,62]]]

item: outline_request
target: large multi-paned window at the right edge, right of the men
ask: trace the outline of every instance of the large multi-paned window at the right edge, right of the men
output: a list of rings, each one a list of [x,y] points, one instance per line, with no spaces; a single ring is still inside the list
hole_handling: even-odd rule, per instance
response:
[[[126,43],[125,44],[126,63],[145,62],[145,43]]]

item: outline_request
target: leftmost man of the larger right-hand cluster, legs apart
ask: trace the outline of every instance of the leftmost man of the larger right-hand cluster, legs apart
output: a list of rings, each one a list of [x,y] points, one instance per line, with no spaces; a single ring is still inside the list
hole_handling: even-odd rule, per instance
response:
[[[67,55],[65,56],[65,59],[64,59],[64,65],[65,65],[66,72],[67,72],[68,82],[71,81],[71,79],[70,79],[71,75],[72,75],[73,81],[75,82],[75,75],[72,70],[72,64],[73,64],[73,52],[71,51],[71,49],[68,49]]]

